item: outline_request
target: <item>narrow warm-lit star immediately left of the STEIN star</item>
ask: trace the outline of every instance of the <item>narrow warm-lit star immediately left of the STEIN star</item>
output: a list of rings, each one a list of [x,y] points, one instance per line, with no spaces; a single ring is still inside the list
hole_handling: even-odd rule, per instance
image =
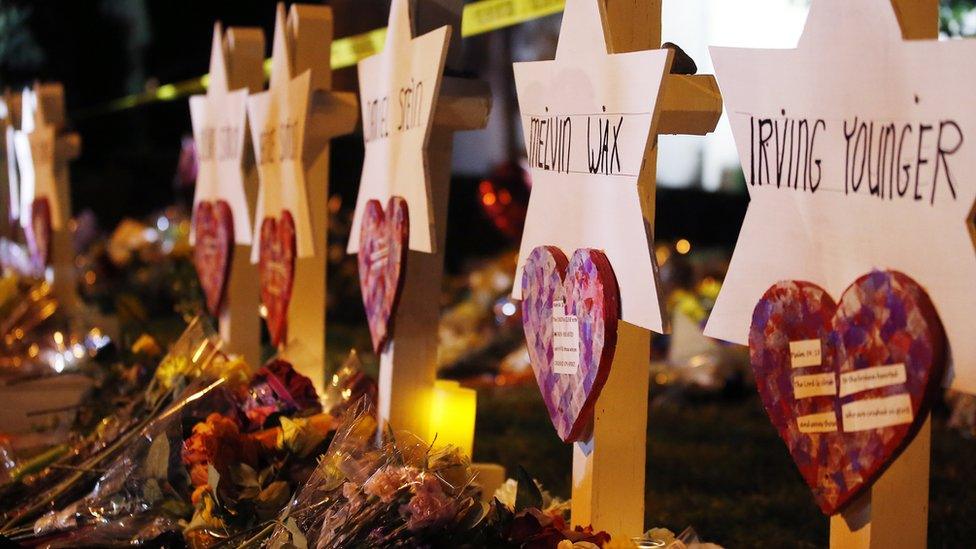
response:
[[[288,24],[291,24],[288,21]],[[275,19],[274,46],[271,52],[271,83],[268,91],[251,95],[247,100],[251,139],[258,163],[257,207],[254,227],[260,228],[266,217],[291,212],[295,219],[299,257],[311,257],[315,250],[313,230],[305,191],[304,147],[309,105],[312,94],[311,70],[293,74],[296,53],[285,30],[284,4],[278,4]],[[325,230],[324,227],[318,230]],[[251,247],[251,261],[257,262],[260,232]]]

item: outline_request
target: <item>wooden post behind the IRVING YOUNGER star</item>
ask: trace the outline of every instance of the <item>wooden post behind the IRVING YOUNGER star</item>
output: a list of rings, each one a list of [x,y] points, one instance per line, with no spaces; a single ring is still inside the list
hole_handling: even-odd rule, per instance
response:
[[[902,37],[939,37],[937,0],[891,0]],[[929,516],[932,418],[871,488],[830,517],[831,549],[924,548]]]

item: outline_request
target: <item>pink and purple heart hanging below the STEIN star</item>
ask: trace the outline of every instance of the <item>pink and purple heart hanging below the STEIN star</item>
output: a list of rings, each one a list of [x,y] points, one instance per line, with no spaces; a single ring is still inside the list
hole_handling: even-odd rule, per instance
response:
[[[373,350],[377,353],[393,334],[409,242],[410,214],[406,200],[390,197],[385,212],[378,200],[366,203],[359,235],[359,288]]]

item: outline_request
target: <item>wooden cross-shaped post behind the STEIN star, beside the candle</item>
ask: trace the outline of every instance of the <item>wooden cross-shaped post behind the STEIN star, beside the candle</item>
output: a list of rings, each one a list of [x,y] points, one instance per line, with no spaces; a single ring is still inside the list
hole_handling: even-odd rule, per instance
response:
[[[455,63],[461,39],[461,2],[413,0],[411,7],[414,36],[451,25],[447,67],[459,68]],[[439,100],[432,108],[433,129],[426,160],[430,174],[430,215],[435,228],[434,252],[408,252],[395,331],[380,355],[377,409],[381,423],[389,422],[398,430],[422,437],[427,435],[430,394],[437,374],[454,132],[485,127],[491,110],[491,94],[484,82],[444,77]]]

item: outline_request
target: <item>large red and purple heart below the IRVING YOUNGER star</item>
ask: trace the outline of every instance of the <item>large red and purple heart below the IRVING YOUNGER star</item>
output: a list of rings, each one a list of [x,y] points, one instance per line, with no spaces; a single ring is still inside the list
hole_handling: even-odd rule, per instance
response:
[[[749,353],[770,421],[832,515],[924,423],[942,380],[945,335],[921,286],[875,271],[837,304],[809,282],[772,286],[753,312]]]

